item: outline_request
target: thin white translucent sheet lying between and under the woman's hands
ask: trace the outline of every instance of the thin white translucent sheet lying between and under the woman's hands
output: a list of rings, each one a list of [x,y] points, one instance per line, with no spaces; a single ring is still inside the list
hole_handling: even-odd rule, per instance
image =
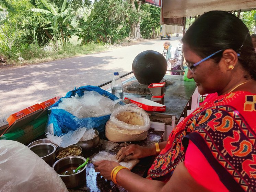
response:
[[[109,161],[115,161],[118,163],[118,160],[116,159],[116,156],[115,155],[112,155],[108,152],[105,152],[105,151],[100,151],[99,153],[97,153],[96,155],[94,155],[93,157],[90,157],[92,163],[95,163],[95,162],[98,162],[98,161],[101,161],[101,160],[109,160]],[[135,165],[137,165],[139,163],[139,159],[132,159],[132,160],[129,160],[127,162],[119,162],[119,164],[121,166],[124,166],[124,167],[127,167],[128,169],[132,169],[133,167],[135,167]]]

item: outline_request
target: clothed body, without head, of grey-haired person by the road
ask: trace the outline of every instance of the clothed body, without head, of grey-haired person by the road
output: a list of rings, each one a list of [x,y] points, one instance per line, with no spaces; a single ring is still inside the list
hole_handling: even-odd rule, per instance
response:
[[[182,62],[182,44],[179,44],[176,49],[171,49],[171,58],[168,60],[171,63],[171,70],[181,70]],[[181,72],[172,72],[172,75],[180,75]]]

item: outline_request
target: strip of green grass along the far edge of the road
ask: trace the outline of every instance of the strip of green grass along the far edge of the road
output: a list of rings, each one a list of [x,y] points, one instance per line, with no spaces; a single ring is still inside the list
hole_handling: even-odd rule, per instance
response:
[[[18,58],[10,58],[7,60],[10,65],[24,65],[29,63],[42,63],[46,61],[65,59],[70,57],[88,55],[92,53],[102,52],[108,50],[110,47],[103,44],[90,43],[86,45],[72,45],[68,44],[56,51],[44,51],[31,45],[29,48],[20,53],[24,61],[19,61]]]

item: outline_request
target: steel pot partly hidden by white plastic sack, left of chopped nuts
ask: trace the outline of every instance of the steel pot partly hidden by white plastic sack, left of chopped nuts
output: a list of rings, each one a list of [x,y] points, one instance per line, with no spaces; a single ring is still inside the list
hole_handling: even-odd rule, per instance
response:
[[[29,147],[31,151],[38,155],[38,157],[44,159],[44,161],[52,166],[55,162],[56,146],[52,143],[39,143]]]

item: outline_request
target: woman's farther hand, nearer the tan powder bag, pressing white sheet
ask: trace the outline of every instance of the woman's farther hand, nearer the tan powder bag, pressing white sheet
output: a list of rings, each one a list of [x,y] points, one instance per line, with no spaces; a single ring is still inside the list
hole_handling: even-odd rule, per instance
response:
[[[139,159],[143,157],[148,157],[150,155],[154,155],[151,149],[152,147],[143,147],[139,145],[128,145],[125,147],[122,147],[119,152],[117,153],[117,160],[120,161],[129,161],[131,159]]]

